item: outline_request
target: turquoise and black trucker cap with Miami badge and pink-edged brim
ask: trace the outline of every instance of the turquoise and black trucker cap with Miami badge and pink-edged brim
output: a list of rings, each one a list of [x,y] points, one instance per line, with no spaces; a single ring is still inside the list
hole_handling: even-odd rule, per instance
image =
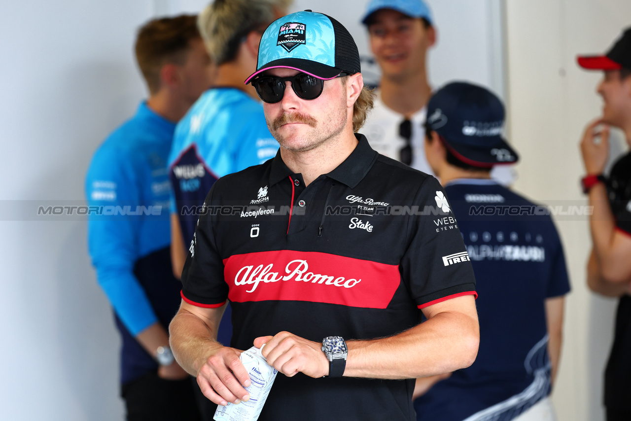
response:
[[[295,69],[323,80],[362,71],[357,45],[348,30],[331,16],[310,10],[283,16],[269,25],[259,44],[256,72],[245,84],[274,68]]]

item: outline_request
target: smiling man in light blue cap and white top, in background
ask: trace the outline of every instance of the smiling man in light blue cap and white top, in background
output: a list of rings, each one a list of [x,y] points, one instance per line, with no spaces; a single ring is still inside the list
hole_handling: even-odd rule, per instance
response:
[[[363,132],[377,152],[433,175],[423,146],[432,95],[427,54],[437,39],[432,12],[423,0],[372,0],[362,23],[381,70]],[[515,179],[512,167],[505,165],[493,169],[492,177],[504,185]]]

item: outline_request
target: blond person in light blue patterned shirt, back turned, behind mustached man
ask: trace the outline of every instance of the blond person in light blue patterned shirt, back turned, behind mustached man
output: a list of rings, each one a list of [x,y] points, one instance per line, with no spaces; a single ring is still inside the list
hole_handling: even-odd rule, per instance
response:
[[[278,143],[269,133],[263,107],[243,81],[256,69],[261,35],[286,14],[292,0],[216,0],[199,15],[206,49],[218,66],[211,89],[175,130],[168,158],[171,198],[171,258],[180,278],[206,194],[223,175],[273,158]],[[226,305],[218,334],[229,344],[232,310]]]

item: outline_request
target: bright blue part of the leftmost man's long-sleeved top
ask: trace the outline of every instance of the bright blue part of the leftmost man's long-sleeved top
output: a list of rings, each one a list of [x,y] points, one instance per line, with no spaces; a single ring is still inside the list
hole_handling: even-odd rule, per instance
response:
[[[143,102],[105,139],[86,175],[86,199],[97,210],[88,215],[92,263],[110,304],[134,336],[158,321],[156,312],[172,310],[172,305],[150,302],[148,290],[161,294],[153,291],[156,282],[145,285],[134,269],[171,242],[167,155],[174,130],[174,123]],[[163,275],[172,278],[167,271]]]

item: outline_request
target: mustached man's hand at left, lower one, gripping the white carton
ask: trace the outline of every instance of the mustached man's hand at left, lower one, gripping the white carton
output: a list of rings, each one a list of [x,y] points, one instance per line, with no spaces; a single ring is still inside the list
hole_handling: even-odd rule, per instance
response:
[[[247,401],[250,376],[239,359],[242,351],[223,347],[206,359],[197,375],[199,388],[206,398],[218,405]]]

